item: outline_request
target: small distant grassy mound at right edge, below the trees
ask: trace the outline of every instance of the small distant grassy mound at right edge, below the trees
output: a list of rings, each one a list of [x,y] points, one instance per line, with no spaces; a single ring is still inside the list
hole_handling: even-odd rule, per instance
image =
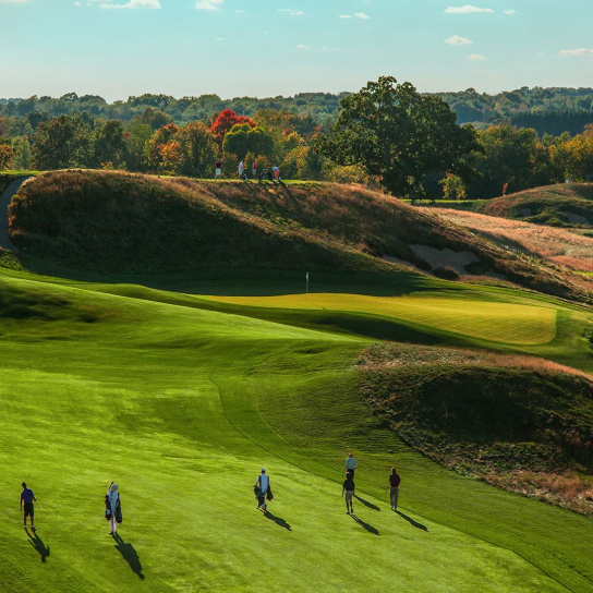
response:
[[[593,227],[593,185],[565,183],[481,202],[476,211],[550,227]]]

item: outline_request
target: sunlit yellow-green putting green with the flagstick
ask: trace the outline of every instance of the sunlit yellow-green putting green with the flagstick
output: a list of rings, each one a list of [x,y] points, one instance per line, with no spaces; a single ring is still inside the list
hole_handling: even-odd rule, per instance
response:
[[[383,315],[481,340],[517,346],[544,344],[556,335],[556,311],[497,301],[433,295],[287,294],[210,296],[225,303],[261,307],[351,311]]]

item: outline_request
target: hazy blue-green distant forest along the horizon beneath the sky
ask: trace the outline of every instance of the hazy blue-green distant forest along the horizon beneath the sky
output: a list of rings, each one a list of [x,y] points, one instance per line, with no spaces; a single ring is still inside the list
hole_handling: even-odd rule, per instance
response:
[[[308,117],[322,130],[335,122],[340,100],[349,93],[299,93],[294,97],[235,97],[221,99],[218,95],[183,97],[168,95],[142,95],[111,104],[96,95],[78,96],[69,93],[59,98],[29,97],[26,99],[0,99],[0,117],[24,118],[43,121],[48,117],[88,112],[106,120],[130,121],[142,116],[146,108],[157,109],[178,125],[192,121],[210,122],[225,109],[253,117],[263,109],[291,111]],[[517,128],[532,128],[540,136],[571,135],[583,132],[593,123],[593,88],[542,88],[522,87],[498,95],[481,94],[469,88],[459,93],[437,93],[458,116],[458,123],[472,123],[477,129],[500,123]]]

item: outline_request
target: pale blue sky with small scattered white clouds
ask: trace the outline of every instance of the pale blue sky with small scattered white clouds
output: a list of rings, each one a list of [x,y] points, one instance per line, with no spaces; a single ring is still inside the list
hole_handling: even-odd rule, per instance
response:
[[[0,97],[593,86],[591,0],[0,0]]]

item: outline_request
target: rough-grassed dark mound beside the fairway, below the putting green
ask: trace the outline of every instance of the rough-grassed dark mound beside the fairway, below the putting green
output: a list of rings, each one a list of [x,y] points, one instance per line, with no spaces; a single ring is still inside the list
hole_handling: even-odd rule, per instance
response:
[[[358,368],[374,412],[448,468],[522,494],[529,474],[550,500],[549,474],[592,473],[589,375],[542,359],[406,344],[374,346]],[[584,496],[565,503],[593,517],[593,484],[583,483]]]

